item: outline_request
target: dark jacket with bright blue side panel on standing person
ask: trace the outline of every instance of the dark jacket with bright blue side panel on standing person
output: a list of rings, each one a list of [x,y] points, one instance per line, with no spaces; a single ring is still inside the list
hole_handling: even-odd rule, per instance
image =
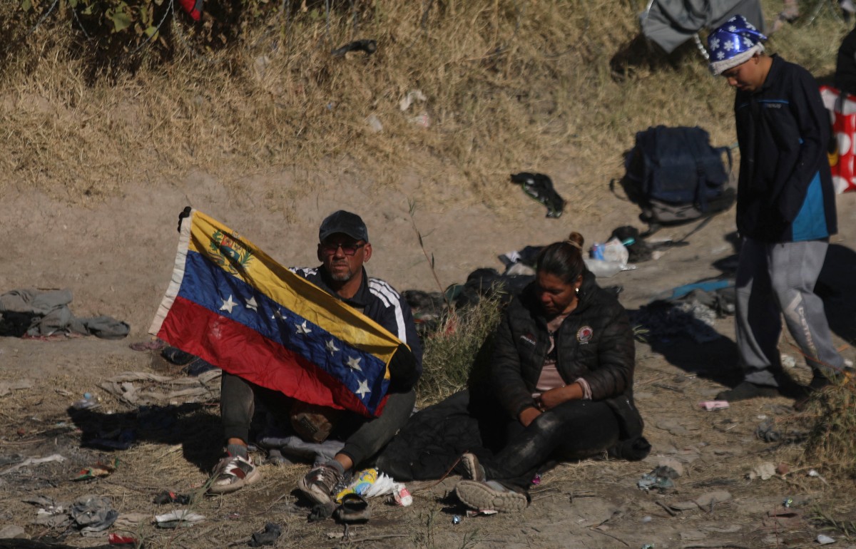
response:
[[[835,234],[829,113],[811,74],[772,56],[761,89],[736,92],[734,116],[740,143],[740,235],[776,243]]]

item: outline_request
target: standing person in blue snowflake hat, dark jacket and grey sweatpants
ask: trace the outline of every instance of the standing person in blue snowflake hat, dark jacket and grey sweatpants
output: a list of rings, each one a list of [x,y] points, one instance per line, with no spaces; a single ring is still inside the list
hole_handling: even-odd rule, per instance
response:
[[[811,74],[764,54],[765,39],[742,15],[708,37],[711,72],[737,90],[740,143],[735,331],[744,381],[716,396],[728,401],[805,393],[782,371],[782,313],[814,372],[809,389],[828,384],[844,366],[813,292],[837,231],[829,114]]]

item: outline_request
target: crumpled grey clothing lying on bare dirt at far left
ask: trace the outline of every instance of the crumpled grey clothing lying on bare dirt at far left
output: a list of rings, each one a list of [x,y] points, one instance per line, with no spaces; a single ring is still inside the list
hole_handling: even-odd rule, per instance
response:
[[[95,335],[103,339],[122,339],[131,327],[110,316],[76,318],[71,314],[71,290],[12,290],[0,295],[0,320],[27,322],[28,336],[60,334]]]

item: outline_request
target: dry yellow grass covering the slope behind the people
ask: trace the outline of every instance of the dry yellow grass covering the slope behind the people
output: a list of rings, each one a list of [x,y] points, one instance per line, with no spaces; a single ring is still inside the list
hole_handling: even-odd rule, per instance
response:
[[[779,9],[766,4],[768,14]],[[700,125],[717,144],[734,140],[724,83],[692,45],[666,59],[634,41],[640,8],[377,0],[358,26],[348,9],[334,12],[328,35],[323,18],[298,12],[245,30],[218,52],[195,48],[189,29],[174,23],[183,53],[169,63],[143,58],[115,79],[93,77],[88,58],[72,53],[71,31],[48,20],[6,52],[0,191],[86,204],[202,170],[239,194],[248,175],[264,181],[285,170],[294,187],[263,182],[253,191],[259,206],[288,216],[291,198],[354,167],[378,190],[416,174],[502,211],[508,173],[571,165],[576,180],[558,181],[560,191],[574,185],[583,191],[574,192],[575,210],[595,211],[635,132]],[[770,50],[829,74],[843,32],[831,20],[787,27]],[[377,53],[329,55],[354,38],[377,39]],[[402,112],[412,90],[427,101]],[[411,121],[423,113],[429,127]],[[370,115],[382,132],[372,132]]]

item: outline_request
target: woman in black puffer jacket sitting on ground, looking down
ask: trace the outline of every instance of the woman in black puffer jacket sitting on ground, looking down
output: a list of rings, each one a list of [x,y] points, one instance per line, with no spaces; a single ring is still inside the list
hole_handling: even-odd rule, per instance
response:
[[[490,393],[507,413],[506,443],[479,463],[461,458],[455,493],[475,509],[521,511],[538,469],[556,452],[585,458],[609,451],[645,458],[633,404],[633,329],[614,292],[586,269],[583,238],[548,245],[535,280],[496,328]]]

